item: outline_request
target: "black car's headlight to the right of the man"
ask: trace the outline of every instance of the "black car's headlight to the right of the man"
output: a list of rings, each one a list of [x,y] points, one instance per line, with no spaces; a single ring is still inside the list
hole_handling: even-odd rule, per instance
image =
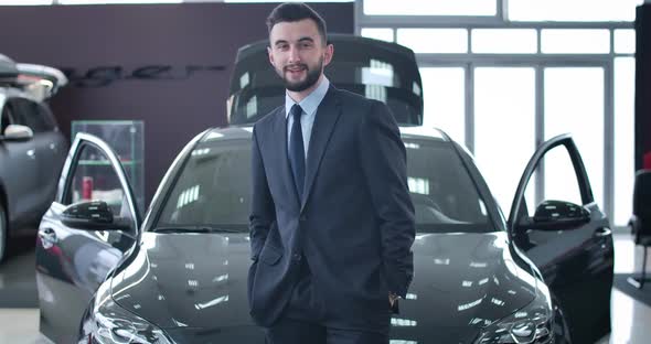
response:
[[[474,343],[552,343],[554,319],[547,300],[538,297],[517,312],[484,327]]]

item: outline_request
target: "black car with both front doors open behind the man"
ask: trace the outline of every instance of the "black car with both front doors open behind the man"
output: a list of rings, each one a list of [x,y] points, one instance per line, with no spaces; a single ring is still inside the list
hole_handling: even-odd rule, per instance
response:
[[[356,40],[363,54],[388,44],[345,40]],[[415,66],[413,53],[394,53]],[[362,68],[369,61],[356,63]],[[269,87],[247,95],[259,99],[281,89],[278,80],[271,87],[248,74],[249,84]],[[329,75],[339,85],[335,73]],[[405,93],[416,94],[415,75]],[[391,88],[401,85],[380,85],[387,92],[378,95],[399,94]],[[237,106],[246,86],[233,87],[232,119],[257,116],[253,106]],[[385,100],[404,107],[405,99]],[[420,96],[412,99],[421,105]],[[418,109],[418,101],[408,106]],[[252,112],[238,110],[246,108]],[[393,344],[590,343],[609,331],[609,222],[569,136],[534,153],[505,219],[461,146],[437,129],[412,123],[401,131],[417,236],[414,281],[392,319]],[[56,343],[264,343],[246,297],[250,138],[245,120],[198,135],[168,170],[142,219],[111,148],[78,135],[39,229],[41,333]],[[526,204],[525,187],[548,152],[569,157],[576,175],[563,182],[576,183],[581,204]],[[81,162],[88,160],[113,169],[93,185],[104,198],[78,202],[87,187]]]

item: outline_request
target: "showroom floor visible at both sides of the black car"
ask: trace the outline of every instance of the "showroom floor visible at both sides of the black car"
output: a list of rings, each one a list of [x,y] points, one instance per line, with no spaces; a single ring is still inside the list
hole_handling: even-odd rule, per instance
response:
[[[34,255],[31,252],[33,246],[29,244],[25,248],[10,252],[6,262],[0,266],[0,295],[7,294],[8,290],[15,294],[17,288],[26,293],[33,293],[35,287],[26,283],[34,283]],[[641,259],[641,248],[634,248],[630,236],[617,235],[615,237],[615,272],[628,273],[639,269]],[[649,259],[651,261],[651,259]],[[651,288],[651,284],[649,287]],[[19,294],[20,294],[19,292]],[[0,298],[2,299],[2,298]],[[2,301],[2,300],[0,300]],[[34,301],[21,301],[25,304]],[[4,304],[8,304],[3,300]],[[649,343],[651,337],[651,307],[637,301],[620,290],[612,289],[612,333],[599,341],[605,343]],[[39,310],[35,308],[13,308],[0,309],[0,343],[12,344],[33,344],[40,343],[39,340]]]

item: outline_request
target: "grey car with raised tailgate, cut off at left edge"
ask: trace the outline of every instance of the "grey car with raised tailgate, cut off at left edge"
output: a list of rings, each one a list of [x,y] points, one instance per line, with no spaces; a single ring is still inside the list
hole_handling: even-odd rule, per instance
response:
[[[8,237],[34,235],[54,200],[68,147],[45,100],[66,82],[0,55],[0,260]]]

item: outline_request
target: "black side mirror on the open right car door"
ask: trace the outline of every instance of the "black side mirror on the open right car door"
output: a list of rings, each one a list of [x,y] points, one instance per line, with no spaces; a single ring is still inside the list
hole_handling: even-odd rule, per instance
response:
[[[585,207],[565,201],[543,201],[533,215],[520,227],[537,230],[565,230],[590,222],[590,212]]]

